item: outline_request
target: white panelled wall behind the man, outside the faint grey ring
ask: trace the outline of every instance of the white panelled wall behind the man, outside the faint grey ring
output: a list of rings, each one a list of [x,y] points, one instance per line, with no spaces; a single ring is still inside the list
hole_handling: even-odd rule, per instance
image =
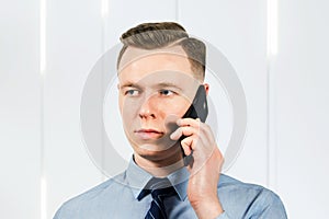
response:
[[[46,218],[105,180],[81,137],[82,89],[120,35],[149,21],[179,21],[236,69],[247,97],[248,132],[227,174],[274,189],[290,218],[326,218],[329,3],[279,0],[277,54],[270,58],[266,1],[46,0],[46,5],[43,76],[41,1],[0,7],[1,218],[41,218],[41,177]]]

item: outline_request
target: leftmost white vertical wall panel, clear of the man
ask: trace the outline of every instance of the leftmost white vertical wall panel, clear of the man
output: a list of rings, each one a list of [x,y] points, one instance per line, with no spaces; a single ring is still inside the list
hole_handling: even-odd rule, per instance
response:
[[[1,218],[39,218],[38,7],[0,7]]]

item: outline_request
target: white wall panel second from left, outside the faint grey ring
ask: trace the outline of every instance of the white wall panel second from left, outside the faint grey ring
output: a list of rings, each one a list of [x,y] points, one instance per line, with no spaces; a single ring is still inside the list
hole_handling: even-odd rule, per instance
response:
[[[47,1],[46,34],[44,159],[52,218],[60,204],[102,180],[80,131],[83,85],[102,53],[101,1]]]

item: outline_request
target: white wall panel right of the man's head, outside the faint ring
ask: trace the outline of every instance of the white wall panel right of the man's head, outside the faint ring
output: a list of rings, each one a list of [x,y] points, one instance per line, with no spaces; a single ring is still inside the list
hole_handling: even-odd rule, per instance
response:
[[[179,21],[193,35],[208,41],[227,57],[246,92],[247,137],[228,174],[262,185],[266,185],[268,174],[265,12],[265,1],[260,0],[180,1],[179,4]],[[211,87],[209,95],[216,96],[213,91]],[[220,107],[217,105],[218,111]],[[229,124],[224,122],[219,126],[227,128]]]

